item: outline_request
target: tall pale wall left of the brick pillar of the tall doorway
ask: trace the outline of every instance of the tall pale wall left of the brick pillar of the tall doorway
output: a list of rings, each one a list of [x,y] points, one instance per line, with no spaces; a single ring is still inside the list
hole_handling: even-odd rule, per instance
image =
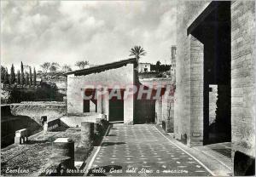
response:
[[[190,136],[191,115],[191,80],[190,77],[190,44],[191,35],[187,36],[190,24],[201,14],[210,1],[177,1],[177,59],[176,59],[176,92],[174,104],[174,133],[177,140],[187,143]],[[195,102],[197,99],[194,100]],[[198,100],[201,103],[201,100]],[[196,110],[195,110],[196,111]],[[198,111],[201,112],[201,111]],[[197,113],[196,113],[197,114]],[[195,124],[201,126],[201,124]],[[200,128],[200,129],[201,129]],[[195,134],[201,140],[202,134]],[[199,137],[198,137],[199,136]]]

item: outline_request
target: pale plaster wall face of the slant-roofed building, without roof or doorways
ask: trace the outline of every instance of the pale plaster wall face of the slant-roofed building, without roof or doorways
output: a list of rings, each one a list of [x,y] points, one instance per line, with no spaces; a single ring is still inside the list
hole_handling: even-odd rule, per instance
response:
[[[120,68],[102,71],[99,73],[92,73],[86,76],[67,76],[67,113],[81,114],[83,113],[83,89],[88,85],[102,85],[108,88],[119,86],[125,88],[126,85],[134,83],[134,69],[133,64],[127,64]],[[106,101],[104,101],[105,103]],[[124,100],[125,120],[131,121],[133,119],[133,100]],[[103,104],[102,109],[108,112],[108,104]]]

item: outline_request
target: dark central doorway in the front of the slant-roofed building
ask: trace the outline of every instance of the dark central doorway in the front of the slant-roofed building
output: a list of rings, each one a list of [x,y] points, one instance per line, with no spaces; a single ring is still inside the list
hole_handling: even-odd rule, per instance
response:
[[[109,122],[124,121],[124,92],[120,91],[121,99],[113,96],[109,100]]]

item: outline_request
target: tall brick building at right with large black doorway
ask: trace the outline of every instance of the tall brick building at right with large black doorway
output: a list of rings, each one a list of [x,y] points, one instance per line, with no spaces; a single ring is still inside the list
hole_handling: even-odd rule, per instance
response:
[[[231,142],[255,157],[254,1],[177,1],[174,133],[188,146]],[[248,163],[252,164],[252,163]]]

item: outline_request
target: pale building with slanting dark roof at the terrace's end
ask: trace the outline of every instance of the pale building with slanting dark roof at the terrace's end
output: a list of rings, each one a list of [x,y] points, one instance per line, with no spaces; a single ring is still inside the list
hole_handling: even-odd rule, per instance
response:
[[[68,72],[67,115],[82,115],[84,112],[94,111],[105,114],[109,121],[133,123],[133,97],[126,100],[108,101],[108,94],[115,86],[119,87],[121,94],[125,94],[126,85],[135,84],[136,62],[136,60],[122,60]],[[95,92],[96,100],[94,98],[84,100],[83,95],[86,94],[84,92],[88,86],[95,86],[91,91]]]

